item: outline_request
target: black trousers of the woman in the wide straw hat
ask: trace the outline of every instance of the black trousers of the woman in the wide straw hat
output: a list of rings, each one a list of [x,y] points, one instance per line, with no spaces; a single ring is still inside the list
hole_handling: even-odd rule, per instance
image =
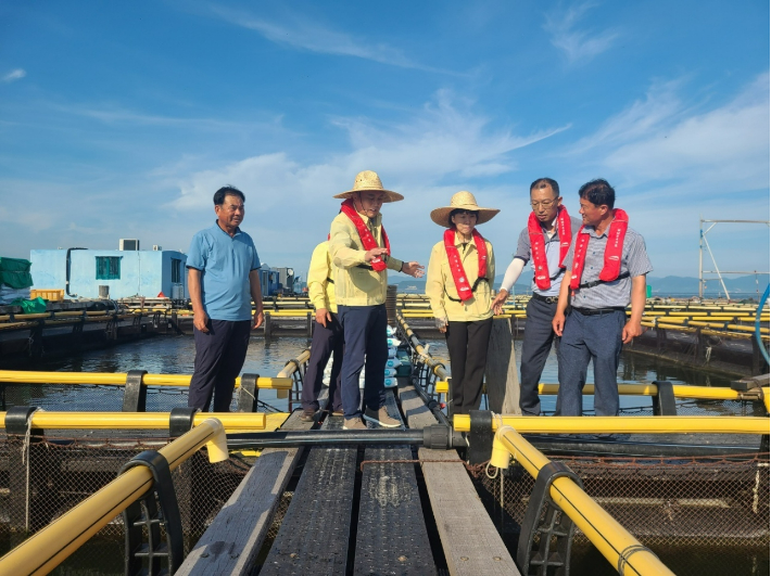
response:
[[[479,410],[492,330],[492,318],[476,322],[450,321],[447,323],[445,338],[453,373],[452,401],[456,414],[468,414],[469,410]]]

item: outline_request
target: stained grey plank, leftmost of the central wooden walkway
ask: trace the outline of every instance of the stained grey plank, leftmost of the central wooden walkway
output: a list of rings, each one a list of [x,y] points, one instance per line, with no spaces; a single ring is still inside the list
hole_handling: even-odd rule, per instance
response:
[[[295,411],[282,430],[308,430]],[[247,476],[188,554],[177,575],[251,574],[302,448],[263,450]]]

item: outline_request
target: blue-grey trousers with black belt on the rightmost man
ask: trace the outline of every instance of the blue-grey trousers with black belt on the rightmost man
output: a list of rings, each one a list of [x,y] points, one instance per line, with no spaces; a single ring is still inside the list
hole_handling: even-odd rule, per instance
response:
[[[616,374],[621,358],[623,310],[583,316],[573,310],[565,320],[559,343],[559,395],[557,415],[581,415],[583,385],[590,360],[594,367],[594,413],[618,415]]]

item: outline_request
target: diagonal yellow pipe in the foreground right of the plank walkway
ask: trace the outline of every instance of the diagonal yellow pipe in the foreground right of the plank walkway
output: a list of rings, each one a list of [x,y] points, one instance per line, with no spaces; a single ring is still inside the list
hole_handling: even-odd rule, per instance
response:
[[[533,478],[538,476],[543,466],[549,463],[545,456],[511,427],[501,428],[495,435],[495,439],[500,440],[514,455],[517,462],[522,464]],[[639,550],[625,558],[622,574],[637,574],[640,576],[672,574],[650,550],[643,549],[642,545],[623,526],[569,477],[556,478],[549,488],[549,495],[599,553],[610,562],[611,566],[619,565],[619,556],[624,551],[635,548]]]

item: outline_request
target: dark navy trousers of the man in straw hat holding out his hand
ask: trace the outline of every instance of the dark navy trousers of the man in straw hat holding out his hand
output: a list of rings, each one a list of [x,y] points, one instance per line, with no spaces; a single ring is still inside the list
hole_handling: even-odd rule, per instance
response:
[[[338,306],[338,319],[343,327],[345,355],[341,374],[343,412],[345,418],[362,415],[362,394],[358,375],[365,368],[364,406],[379,410],[386,405],[386,361],[388,360],[388,316],[386,305]]]

